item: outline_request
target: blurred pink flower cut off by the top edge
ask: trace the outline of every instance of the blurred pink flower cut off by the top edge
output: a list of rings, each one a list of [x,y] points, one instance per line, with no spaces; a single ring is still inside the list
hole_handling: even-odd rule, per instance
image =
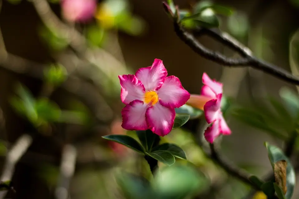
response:
[[[97,9],[96,0],[61,0],[62,15],[68,21],[87,22]]]

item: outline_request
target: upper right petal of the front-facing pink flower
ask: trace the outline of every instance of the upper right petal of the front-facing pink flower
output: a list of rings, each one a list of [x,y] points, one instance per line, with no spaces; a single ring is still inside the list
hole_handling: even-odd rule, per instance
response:
[[[176,76],[166,77],[157,94],[160,104],[172,109],[183,106],[190,98],[190,93],[183,88]]]

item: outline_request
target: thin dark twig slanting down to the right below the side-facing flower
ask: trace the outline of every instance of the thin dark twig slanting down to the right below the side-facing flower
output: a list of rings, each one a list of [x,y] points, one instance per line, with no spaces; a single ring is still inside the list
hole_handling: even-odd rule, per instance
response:
[[[223,168],[228,174],[240,179],[242,182],[250,185],[251,187],[254,187],[257,190],[260,190],[260,187],[256,184],[252,183],[249,180],[249,174],[245,173],[244,171],[240,170],[239,168],[236,168],[224,160],[220,158],[220,155],[215,149],[215,146],[213,144],[210,144],[211,154],[208,155],[211,160],[213,160],[215,163],[217,163],[221,168]]]

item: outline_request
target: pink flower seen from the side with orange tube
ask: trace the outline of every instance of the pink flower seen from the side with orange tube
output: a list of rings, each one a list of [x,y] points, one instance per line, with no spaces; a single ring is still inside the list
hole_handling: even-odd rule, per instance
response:
[[[213,143],[220,134],[230,135],[230,128],[227,126],[221,112],[222,83],[211,80],[203,73],[201,95],[191,95],[186,104],[204,110],[206,122],[212,124],[205,130],[206,141]]]

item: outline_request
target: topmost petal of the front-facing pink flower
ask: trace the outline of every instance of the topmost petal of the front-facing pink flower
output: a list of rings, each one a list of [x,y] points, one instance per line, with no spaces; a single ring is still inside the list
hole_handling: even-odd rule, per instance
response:
[[[135,75],[142,82],[146,91],[155,91],[164,83],[167,76],[167,70],[164,67],[162,60],[155,59],[152,66],[139,68]]]

